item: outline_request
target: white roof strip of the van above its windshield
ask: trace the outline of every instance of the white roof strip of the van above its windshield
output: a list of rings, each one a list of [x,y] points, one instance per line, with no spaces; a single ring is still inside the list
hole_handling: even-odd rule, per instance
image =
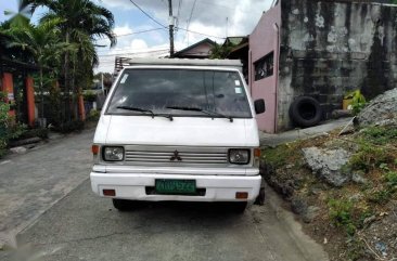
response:
[[[137,65],[188,65],[188,66],[220,66],[241,69],[243,64],[240,60],[208,60],[208,58],[131,58],[129,66]],[[129,66],[125,67],[129,67]]]

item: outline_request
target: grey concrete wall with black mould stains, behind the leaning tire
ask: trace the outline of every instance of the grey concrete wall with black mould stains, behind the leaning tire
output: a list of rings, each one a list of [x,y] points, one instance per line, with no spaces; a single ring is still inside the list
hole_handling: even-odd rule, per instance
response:
[[[328,118],[348,90],[371,99],[394,88],[396,13],[390,5],[281,0],[279,130],[292,127],[296,96],[318,99]]]

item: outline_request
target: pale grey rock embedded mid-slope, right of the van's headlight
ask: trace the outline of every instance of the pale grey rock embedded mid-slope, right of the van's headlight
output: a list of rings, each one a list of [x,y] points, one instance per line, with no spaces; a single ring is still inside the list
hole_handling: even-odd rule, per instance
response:
[[[342,186],[350,180],[349,173],[344,173],[341,168],[350,158],[350,153],[343,148],[323,149],[318,147],[303,148],[307,165],[313,173],[333,186]]]

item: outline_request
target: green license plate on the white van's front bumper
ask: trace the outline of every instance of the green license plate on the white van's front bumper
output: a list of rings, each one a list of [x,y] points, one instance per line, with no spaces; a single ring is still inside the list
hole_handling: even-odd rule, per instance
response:
[[[156,180],[158,194],[195,194],[195,180]]]

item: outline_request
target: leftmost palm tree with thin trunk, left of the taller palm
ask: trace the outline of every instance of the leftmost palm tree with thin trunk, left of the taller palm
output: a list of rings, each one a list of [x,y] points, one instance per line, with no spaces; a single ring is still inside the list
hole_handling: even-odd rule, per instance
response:
[[[67,44],[61,41],[59,25],[61,18],[48,19],[38,25],[12,25],[10,29],[3,31],[10,37],[8,48],[18,48],[29,52],[36,65],[39,68],[39,91],[41,96],[41,117],[44,114],[43,101],[43,71],[46,65],[52,61],[61,58],[61,55],[67,50]]]

